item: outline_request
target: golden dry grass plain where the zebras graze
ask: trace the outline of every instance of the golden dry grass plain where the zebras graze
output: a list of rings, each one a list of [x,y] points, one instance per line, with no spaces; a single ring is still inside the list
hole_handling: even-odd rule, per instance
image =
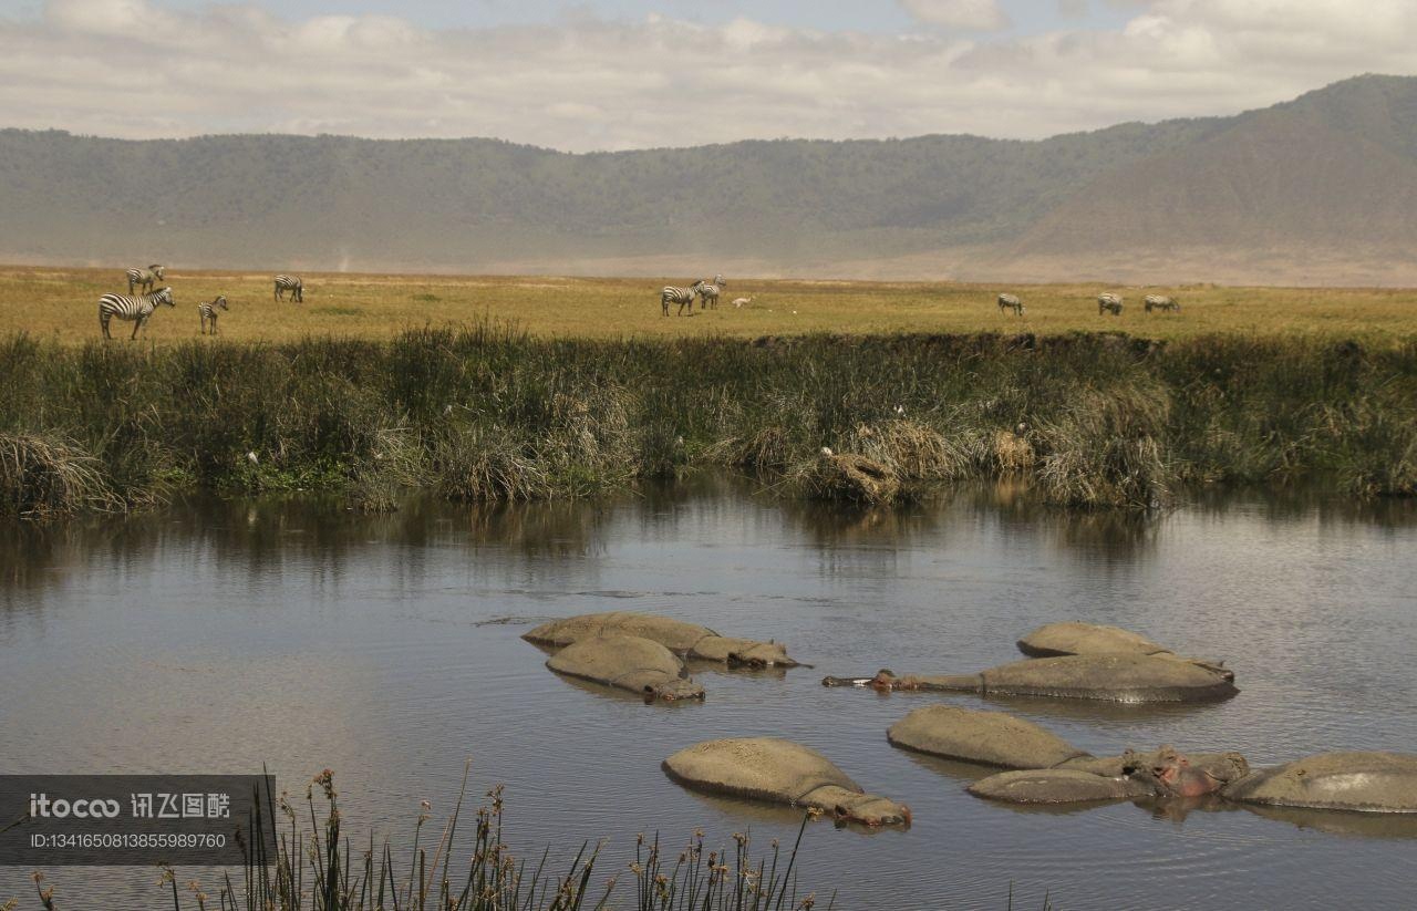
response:
[[[710,268],[706,273],[713,272]],[[1212,333],[1299,334],[1383,343],[1417,336],[1417,290],[1281,288],[1102,288],[1036,285],[754,281],[728,276],[724,303],[691,317],[660,316],[659,289],[697,276],[645,279],[472,278],[305,273],[305,303],[272,300],[269,272],[169,271],[177,307],[163,307],[145,337],[170,343],[198,337],[197,303],[218,293],[231,300],[221,317],[228,340],[289,341],[305,336],[388,339],[402,329],[466,323],[483,316],[514,320],[536,336],[760,337],[833,333],[1036,333],[1122,330],[1179,340]],[[123,271],[0,268],[0,319],[64,343],[99,336],[98,298],[126,292]],[[995,306],[1000,290],[1023,298],[1023,317]],[[1095,296],[1127,299],[1121,317],[1098,316]],[[1142,312],[1145,293],[1182,302],[1180,315]],[[748,307],[727,300],[754,296]]]

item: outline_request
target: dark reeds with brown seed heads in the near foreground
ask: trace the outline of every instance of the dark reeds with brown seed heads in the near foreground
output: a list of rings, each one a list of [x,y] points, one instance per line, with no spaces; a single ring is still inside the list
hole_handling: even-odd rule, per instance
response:
[[[751,856],[751,839],[734,834],[734,847],[704,850],[696,832],[689,844],[667,856],[659,837],[639,836],[629,885],[616,876],[601,876],[601,847],[585,843],[568,861],[551,866],[551,851],[517,857],[503,840],[502,789],[486,793],[476,809],[473,840],[466,867],[455,866],[453,853],[462,822],[468,781],[442,826],[428,833],[431,806],[425,802],[407,851],[395,854],[388,840],[373,834],[359,846],[349,837],[339,809],[334,776],[326,769],[306,788],[305,808],[296,809],[282,793],[264,795],[264,812],[242,840],[244,867],[224,871],[215,883],[181,883],[181,874],[164,867],[160,900],[173,911],[809,911],[815,893],[798,894],[796,860],[811,815],[803,816],[796,840],[784,854],[778,842],[762,857]],[[319,809],[317,809],[319,806]],[[276,826],[275,856],[264,846],[261,829]],[[674,859],[677,857],[677,859]],[[55,887],[34,874],[40,907],[60,908]],[[631,904],[633,902],[633,904]],[[0,905],[6,911],[16,901]],[[828,902],[835,907],[835,898]]]

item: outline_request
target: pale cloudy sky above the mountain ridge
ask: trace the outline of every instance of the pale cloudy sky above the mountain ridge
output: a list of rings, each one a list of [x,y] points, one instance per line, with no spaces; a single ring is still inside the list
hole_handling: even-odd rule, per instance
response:
[[[1417,0],[0,0],[0,126],[1039,139],[1417,74]]]

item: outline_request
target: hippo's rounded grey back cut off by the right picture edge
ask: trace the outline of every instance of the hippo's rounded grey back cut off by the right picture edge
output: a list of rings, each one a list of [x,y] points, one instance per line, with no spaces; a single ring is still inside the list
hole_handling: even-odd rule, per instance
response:
[[[1417,813],[1417,754],[1322,752],[1231,782],[1238,803],[1363,813]]]

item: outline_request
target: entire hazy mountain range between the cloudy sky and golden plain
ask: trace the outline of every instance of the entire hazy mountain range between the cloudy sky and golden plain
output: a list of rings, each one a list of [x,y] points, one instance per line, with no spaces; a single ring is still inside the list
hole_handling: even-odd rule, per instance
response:
[[[1417,282],[1414,204],[1417,78],[1396,77],[1041,142],[0,130],[0,259],[20,262]]]

